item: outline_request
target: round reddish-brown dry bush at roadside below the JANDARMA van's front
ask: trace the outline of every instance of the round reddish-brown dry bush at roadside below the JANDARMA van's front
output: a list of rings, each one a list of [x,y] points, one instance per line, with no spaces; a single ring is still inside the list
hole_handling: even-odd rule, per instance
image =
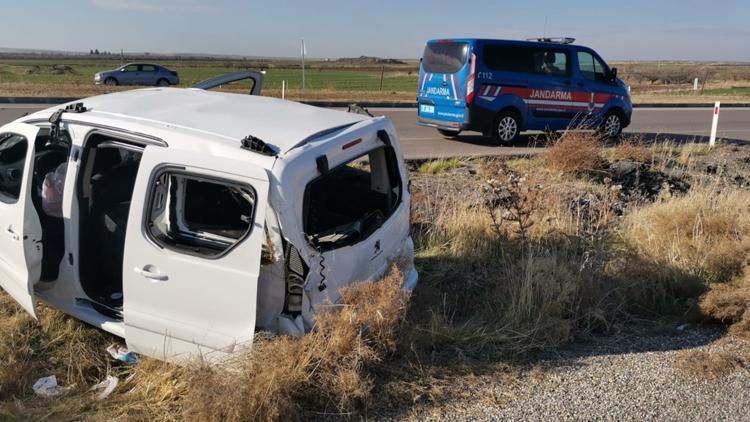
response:
[[[566,132],[549,148],[549,168],[563,173],[583,173],[599,167],[602,146],[599,138],[586,132]]]

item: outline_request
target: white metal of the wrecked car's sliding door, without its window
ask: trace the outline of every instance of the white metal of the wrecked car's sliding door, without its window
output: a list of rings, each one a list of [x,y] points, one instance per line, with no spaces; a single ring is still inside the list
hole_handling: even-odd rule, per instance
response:
[[[252,186],[254,220],[250,233],[227,254],[207,259],[150,241],[143,229],[148,202],[133,201],[123,263],[128,347],[162,359],[184,353],[231,352],[236,344],[248,344],[253,338],[268,176],[265,170],[238,160],[147,146],[134,198],[149,196],[154,173],[164,166]]]

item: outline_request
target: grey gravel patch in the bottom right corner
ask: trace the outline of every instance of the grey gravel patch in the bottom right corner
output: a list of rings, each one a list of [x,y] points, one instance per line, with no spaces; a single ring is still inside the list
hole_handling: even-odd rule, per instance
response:
[[[473,402],[447,401],[409,416],[452,421],[750,421],[747,362],[709,381],[676,368],[678,356],[690,350],[746,356],[750,341],[723,337],[712,328],[688,328],[577,344],[542,357],[541,370],[526,371],[517,383],[483,375],[484,391],[478,391]]]

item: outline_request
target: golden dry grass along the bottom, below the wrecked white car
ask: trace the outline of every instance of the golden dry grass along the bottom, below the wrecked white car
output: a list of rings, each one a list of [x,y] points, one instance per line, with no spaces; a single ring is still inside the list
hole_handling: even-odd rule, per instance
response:
[[[260,336],[252,349],[222,365],[142,359],[132,368],[110,367],[104,352],[109,336],[52,310],[39,329],[3,294],[0,418],[85,413],[94,420],[245,421],[348,413],[367,405],[371,366],[395,347],[407,304],[402,285],[396,267],[379,282],[354,284],[342,292],[342,305],[320,310],[313,333]],[[107,401],[96,402],[87,389],[106,373],[126,381]],[[76,387],[49,400],[30,395],[31,383],[49,374]]]

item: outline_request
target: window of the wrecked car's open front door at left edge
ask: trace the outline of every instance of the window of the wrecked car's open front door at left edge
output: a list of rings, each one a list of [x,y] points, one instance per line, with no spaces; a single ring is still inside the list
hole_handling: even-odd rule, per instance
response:
[[[18,201],[28,148],[23,136],[0,134],[0,201],[7,204]]]

